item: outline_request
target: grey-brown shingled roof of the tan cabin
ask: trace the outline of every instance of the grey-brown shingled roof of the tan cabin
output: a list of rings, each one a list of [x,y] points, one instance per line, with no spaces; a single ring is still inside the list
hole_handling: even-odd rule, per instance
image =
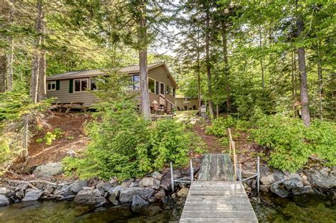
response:
[[[164,62],[148,64],[148,69],[158,67],[162,64],[164,64]],[[77,71],[77,72],[66,72],[62,74],[55,74],[52,76],[47,76],[47,81],[104,75],[106,71],[107,71],[106,69],[89,69],[89,70]],[[139,64],[133,64],[127,67],[123,67],[119,69],[119,72],[128,73],[128,74],[140,72]]]

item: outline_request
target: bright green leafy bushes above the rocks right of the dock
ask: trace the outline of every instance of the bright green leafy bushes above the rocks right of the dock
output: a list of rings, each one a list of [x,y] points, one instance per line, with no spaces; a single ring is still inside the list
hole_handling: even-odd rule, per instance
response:
[[[271,149],[269,165],[287,171],[297,171],[318,155],[335,165],[336,125],[314,120],[310,127],[297,118],[284,115],[262,115],[252,130],[252,137],[260,146]]]

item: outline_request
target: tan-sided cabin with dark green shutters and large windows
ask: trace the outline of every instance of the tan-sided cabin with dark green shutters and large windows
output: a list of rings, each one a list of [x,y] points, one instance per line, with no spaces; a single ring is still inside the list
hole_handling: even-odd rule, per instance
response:
[[[140,104],[140,68],[138,64],[119,69],[120,73],[130,75],[130,91],[136,94]],[[99,102],[99,98],[91,91],[97,91],[95,78],[106,75],[103,69],[92,69],[77,72],[66,72],[48,76],[47,98],[56,98],[57,105],[65,105],[66,108],[89,108]],[[150,96],[150,107],[152,112],[162,110],[164,113],[171,113],[175,107],[175,92],[178,88],[177,82],[169,72],[164,62],[148,64],[148,91]],[[88,91],[90,90],[90,91]]]

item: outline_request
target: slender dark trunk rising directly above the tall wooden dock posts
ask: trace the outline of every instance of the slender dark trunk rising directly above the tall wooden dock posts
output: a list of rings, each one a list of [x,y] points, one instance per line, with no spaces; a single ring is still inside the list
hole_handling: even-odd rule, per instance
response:
[[[228,63],[228,30],[226,29],[226,21],[222,22],[222,41],[223,41],[223,54],[224,54],[224,69],[226,77],[226,109],[230,113],[231,110],[231,96],[230,96],[230,70]]]

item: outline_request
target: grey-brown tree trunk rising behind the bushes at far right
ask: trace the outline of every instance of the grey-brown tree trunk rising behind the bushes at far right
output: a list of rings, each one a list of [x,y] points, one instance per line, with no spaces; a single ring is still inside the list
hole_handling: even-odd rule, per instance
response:
[[[298,7],[298,0],[296,0],[296,7]],[[298,28],[298,38],[300,37],[303,31],[303,18],[301,15],[298,15],[297,20]],[[300,72],[301,79],[301,118],[303,124],[306,126],[310,125],[310,114],[308,108],[308,88],[307,88],[307,73],[306,73],[306,56],[305,48],[298,48],[298,70]]]

